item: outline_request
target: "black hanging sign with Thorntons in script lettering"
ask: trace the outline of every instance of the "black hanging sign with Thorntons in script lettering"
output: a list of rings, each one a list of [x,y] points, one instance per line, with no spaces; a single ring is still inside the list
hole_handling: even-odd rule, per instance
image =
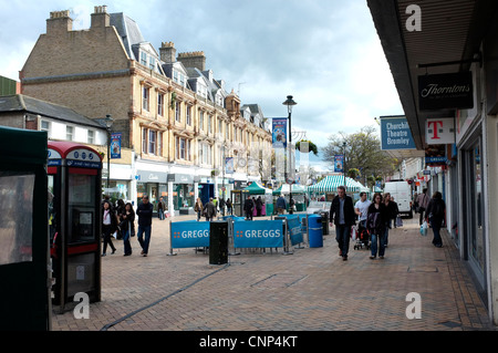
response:
[[[473,108],[473,73],[418,76],[418,106],[421,111]]]

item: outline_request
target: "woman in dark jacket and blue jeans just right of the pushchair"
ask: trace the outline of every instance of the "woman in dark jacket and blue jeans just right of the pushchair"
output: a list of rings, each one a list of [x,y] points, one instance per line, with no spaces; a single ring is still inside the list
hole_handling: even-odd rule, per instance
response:
[[[387,227],[388,212],[385,203],[382,201],[382,195],[375,193],[372,205],[369,206],[366,216],[366,230],[371,237],[370,258],[373,260],[377,256],[384,259],[385,253],[385,228]]]

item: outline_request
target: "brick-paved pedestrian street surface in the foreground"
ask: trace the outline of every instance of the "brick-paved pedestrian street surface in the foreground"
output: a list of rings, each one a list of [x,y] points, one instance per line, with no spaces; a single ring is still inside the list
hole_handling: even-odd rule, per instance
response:
[[[435,248],[432,231],[418,232],[417,220],[392,229],[385,259],[354,250],[338,256],[331,235],[322,248],[230,256],[226,266],[209,264],[194,249],[169,253],[169,220],[154,220],[148,257],[102,258],[102,301],[90,305],[90,319],[71,308],[54,310],[53,331],[495,331],[475,285],[444,232]],[[418,293],[421,319],[406,313]],[[409,308],[408,308],[409,307]],[[407,310],[408,308],[408,310]]]

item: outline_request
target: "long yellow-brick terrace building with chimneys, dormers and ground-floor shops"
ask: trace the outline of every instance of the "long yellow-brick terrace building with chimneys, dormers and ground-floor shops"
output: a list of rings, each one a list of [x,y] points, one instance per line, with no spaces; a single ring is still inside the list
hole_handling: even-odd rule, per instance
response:
[[[250,163],[271,150],[263,116],[241,114],[239,97],[206,70],[204,52],[176,55],[172,42],[157,51],[135,21],[105,6],[95,7],[91,28],[81,31],[72,29],[69,11],[51,12],[20,80],[23,94],[91,118],[112,115],[131,163],[115,168],[113,159],[111,180],[127,199],[163,196],[173,210],[197,196],[218,196],[235,180],[269,179]],[[225,180],[224,157],[235,160]]]

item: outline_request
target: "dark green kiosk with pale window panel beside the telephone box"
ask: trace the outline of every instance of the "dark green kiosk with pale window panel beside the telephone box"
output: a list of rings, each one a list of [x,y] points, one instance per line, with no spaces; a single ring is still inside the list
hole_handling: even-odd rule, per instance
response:
[[[0,127],[0,331],[51,330],[45,168],[46,132]]]

